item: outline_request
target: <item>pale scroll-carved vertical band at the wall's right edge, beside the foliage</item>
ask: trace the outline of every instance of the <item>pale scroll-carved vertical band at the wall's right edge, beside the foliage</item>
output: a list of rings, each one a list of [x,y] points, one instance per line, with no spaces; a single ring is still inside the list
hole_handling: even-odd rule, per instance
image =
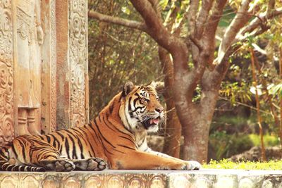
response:
[[[85,75],[87,73],[87,2],[69,1],[69,38],[71,63],[71,107],[72,126],[87,123],[85,108]]]

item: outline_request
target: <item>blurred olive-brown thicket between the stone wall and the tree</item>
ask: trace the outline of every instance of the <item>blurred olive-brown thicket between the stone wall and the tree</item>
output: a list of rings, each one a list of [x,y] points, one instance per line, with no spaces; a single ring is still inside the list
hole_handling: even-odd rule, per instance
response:
[[[89,8],[135,18],[127,1],[90,1]],[[157,44],[144,32],[89,20],[90,118],[121,91],[127,80],[146,84],[163,80]]]

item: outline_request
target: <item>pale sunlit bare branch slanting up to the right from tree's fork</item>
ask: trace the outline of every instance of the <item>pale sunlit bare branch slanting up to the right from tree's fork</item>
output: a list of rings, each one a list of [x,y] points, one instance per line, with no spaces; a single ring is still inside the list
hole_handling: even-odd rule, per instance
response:
[[[236,13],[235,18],[231,22],[231,25],[229,25],[225,34],[223,35],[223,40],[219,46],[219,56],[216,58],[214,63],[221,63],[224,55],[226,54],[226,51],[231,46],[239,30],[248,22],[248,20],[250,20],[251,15],[247,13],[250,1],[251,0],[244,0],[242,2],[238,13]]]

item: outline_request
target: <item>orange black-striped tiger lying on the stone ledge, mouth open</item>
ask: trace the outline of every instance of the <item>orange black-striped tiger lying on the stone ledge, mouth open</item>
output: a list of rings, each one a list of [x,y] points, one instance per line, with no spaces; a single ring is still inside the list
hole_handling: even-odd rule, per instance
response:
[[[121,92],[89,124],[49,134],[20,135],[0,149],[0,170],[198,170],[197,161],[183,161],[153,151],[147,134],[164,121],[156,84],[126,82]]]

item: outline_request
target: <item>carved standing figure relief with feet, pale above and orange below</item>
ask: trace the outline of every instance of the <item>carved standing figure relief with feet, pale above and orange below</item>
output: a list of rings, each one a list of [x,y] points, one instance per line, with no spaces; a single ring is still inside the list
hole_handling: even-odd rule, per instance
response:
[[[40,130],[41,51],[43,30],[39,0],[16,2],[18,133]]]

